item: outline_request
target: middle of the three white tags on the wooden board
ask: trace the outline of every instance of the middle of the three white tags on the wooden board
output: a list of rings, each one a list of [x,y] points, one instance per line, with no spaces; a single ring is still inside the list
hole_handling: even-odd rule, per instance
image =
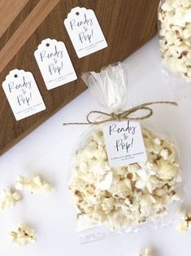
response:
[[[63,42],[47,38],[41,42],[34,55],[48,90],[77,79]]]

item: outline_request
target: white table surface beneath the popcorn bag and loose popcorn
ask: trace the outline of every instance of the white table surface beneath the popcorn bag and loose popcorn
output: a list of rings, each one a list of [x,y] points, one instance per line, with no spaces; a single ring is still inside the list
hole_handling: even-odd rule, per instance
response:
[[[158,57],[158,38],[154,38],[128,60],[128,107],[152,100],[179,101],[179,107],[158,105],[148,123],[167,130],[180,146],[184,172],[186,204],[191,206],[191,86],[177,86],[163,77]],[[175,93],[174,93],[175,91]],[[190,97],[191,98],[191,97]],[[0,212],[1,256],[137,256],[146,247],[157,256],[190,256],[191,232],[182,234],[175,227],[144,229],[138,233],[112,236],[80,245],[67,179],[72,150],[87,126],[62,126],[63,121],[84,121],[90,110],[103,108],[86,90],[51,117],[37,130],[0,157],[0,190],[14,186],[17,175],[41,174],[53,183],[51,196],[22,192],[23,201],[13,210]],[[37,230],[37,243],[25,247],[11,244],[7,233],[18,223]]]

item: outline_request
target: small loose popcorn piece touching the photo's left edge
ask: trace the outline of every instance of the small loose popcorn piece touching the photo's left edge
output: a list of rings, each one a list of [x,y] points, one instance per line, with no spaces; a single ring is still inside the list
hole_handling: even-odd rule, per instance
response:
[[[18,192],[11,192],[11,188],[3,189],[2,210],[7,208],[14,208],[15,205],[21,200]]]

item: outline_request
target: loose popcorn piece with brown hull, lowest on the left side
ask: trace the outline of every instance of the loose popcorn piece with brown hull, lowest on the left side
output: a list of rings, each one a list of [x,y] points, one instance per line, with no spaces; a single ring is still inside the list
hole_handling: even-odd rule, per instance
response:
[[[16,231],[9,233],[9,236],[12,242],[19,245],[28,245],[30,242],[37,241],[34,230],[24,224],[20,224]]]

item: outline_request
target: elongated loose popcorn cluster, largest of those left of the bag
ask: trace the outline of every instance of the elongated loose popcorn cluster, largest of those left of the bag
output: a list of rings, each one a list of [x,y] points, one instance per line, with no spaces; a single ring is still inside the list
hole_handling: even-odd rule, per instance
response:
[[[28,192],[35,193],[35,194],[50,194],[54,192],[54,187],[42,181],[40,176],[33,176],[31,178],[24,178],[23,176],[19,176],[16,179],[15,188],[18,190],[26,189]]]

